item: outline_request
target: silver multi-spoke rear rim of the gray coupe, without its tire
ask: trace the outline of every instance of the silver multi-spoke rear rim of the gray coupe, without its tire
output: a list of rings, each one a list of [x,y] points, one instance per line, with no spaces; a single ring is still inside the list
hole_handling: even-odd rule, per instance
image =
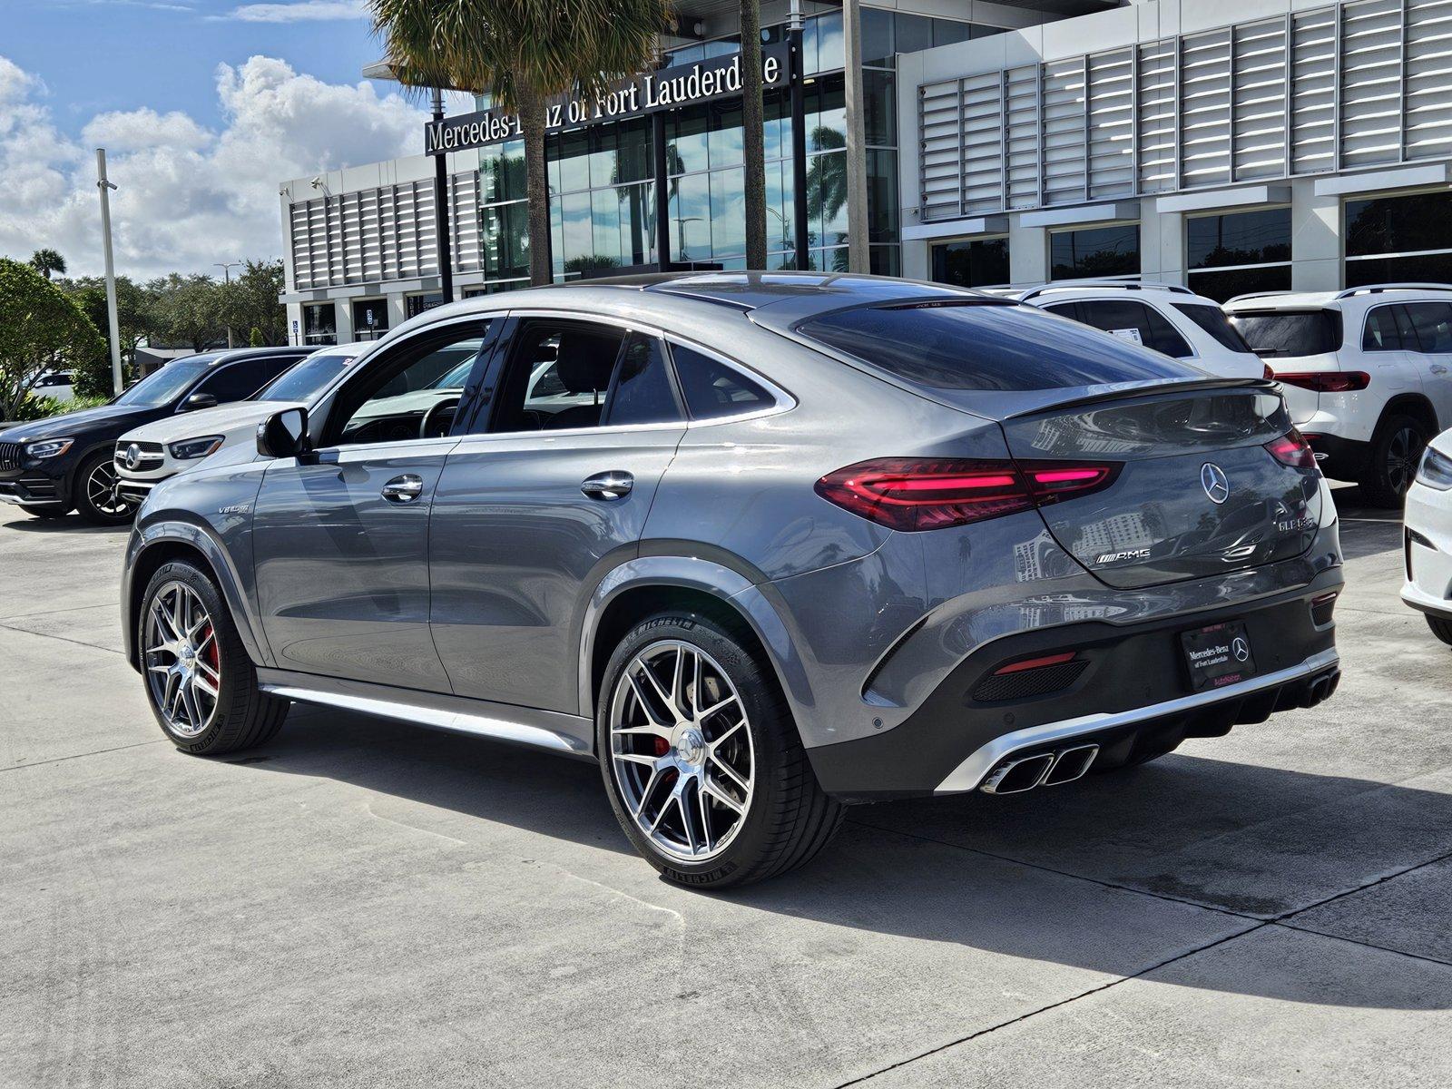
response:
[[[630,819],[664,854],[703,862],[741,831],[755,762],[746,711],[704,650],[662,639],[616,681],[610,761]]]

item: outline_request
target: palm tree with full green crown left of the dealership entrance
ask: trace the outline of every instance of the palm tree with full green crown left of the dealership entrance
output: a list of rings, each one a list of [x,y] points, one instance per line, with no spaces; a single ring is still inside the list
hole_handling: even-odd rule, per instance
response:
[[[669,20],[666,0],[369,0],[373,32],[408,87],[488,93],[524,136],[530,283],[549,283],[549,100],[645,68]]]

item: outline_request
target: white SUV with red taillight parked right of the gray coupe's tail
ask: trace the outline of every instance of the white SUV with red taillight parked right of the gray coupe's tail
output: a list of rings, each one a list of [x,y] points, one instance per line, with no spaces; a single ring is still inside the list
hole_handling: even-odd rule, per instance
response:
[[[1321,472],[1398,507],[1452,424],[1452,286],[1240,295],[1225,312],[1270,364]]]

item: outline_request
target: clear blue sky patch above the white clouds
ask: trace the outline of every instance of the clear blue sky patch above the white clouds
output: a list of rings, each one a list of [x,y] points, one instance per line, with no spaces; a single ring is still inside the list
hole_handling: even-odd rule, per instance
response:
[[[150,106],[222,123],[219,62],[266,55],[325,83],[356,83],[379,44],[356,3],[0,0],[0,54],[38,76],[58,128]],[[380,86],[382,89],[382,86]]]

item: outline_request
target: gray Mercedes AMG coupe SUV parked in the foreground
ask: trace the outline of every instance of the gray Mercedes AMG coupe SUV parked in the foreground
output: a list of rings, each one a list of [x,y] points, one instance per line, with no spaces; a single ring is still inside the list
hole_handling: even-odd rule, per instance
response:
[[[1270,382],[939,285],[709,273],[407,322],[158,485],[122,604],[184,751],[305,701],[595,759],[640,854],[719,887],[847,803],[1313,706],[1340,587]]]

